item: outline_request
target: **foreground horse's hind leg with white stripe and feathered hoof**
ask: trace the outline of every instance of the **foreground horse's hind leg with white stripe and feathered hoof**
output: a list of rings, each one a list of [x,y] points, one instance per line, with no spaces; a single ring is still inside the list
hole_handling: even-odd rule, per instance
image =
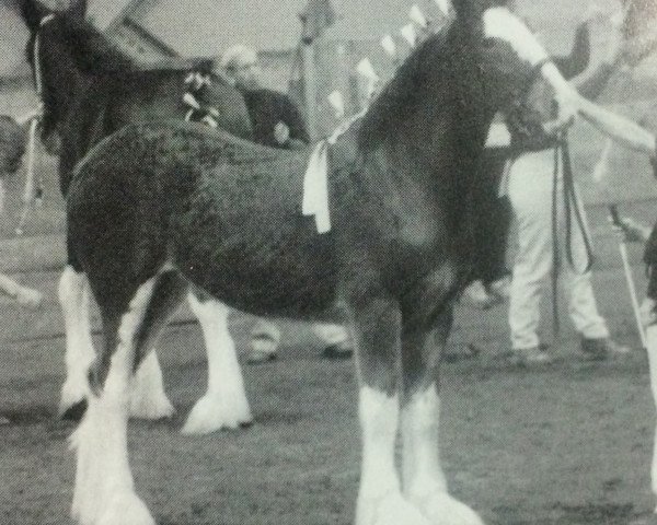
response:
[[[135,492],[128,463],[129,390],[139,357],[157,339],[185,290],[177,275],[166,272],[124,289],[128,299],[99,298],[105,350],[92,375],[94,394],[72,438],[78,462],[72,513],[81,524],[154,525]]]

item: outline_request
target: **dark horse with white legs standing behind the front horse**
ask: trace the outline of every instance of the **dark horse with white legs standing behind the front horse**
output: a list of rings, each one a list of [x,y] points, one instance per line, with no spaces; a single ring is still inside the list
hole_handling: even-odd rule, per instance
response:
[[[132,121],[185,118],[189,108],[183,104],[183,93],[191,70],[200,69],[211,77],[211,83],[195,96],[204,106],[217,109],[216,124],[238,137],[253,138],[241,93],[226,79],[212,77],[207,61],[172,59],[149,70],[136,69],[84,21],[85,10],[84,0],[73,2],[62,13],[45,10],[35,0],[21,2],[23,20],[31,30],[27,58],[43,100],[43,138],[51,143],[54,135],[60,136],[59,176],[65,196],[73,166],[103,137]],[[228,322],[226,310],[200,291],[193,291],[188,300],[204,331],[209,371],[207,393],[193,408],[183,432],[208,433],[249,424],[252,418],[237,360],[227,363],[216,359],[218,345],[232,345],[216,337],[215,326],[223,327]],[[87,368],[95,358],[85,279],[66,271],[59,282],[59,301],[67,335],[67,378],[59,412],[77,419],[89,395]],[[219,330],[223,332],[223,328]],[[147,419],[171,416],[173,406],[164,393],[154,352],[141,365],[139,378],[132,415]]]

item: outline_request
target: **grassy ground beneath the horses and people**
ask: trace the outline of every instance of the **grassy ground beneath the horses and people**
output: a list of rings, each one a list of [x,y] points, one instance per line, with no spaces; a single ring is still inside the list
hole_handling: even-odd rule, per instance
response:
[[[243,350],[251,319],[233,317]],[[199,331],[172,328],[161,359],[178,410],[132,422],[140,493],[161,525],[351,523],[359,436],[351,363],[320,358],[318,342],[286,325],[274,364],[245,366],[256,423],[204,438],[178,433],[201,394]],[[0,369],[0,523],[68,522],[72,425],[54,417],[61,341],[5,346]],[[489,524],[626,525],[649,514],[654,430],[647,363],[564,361],[518,371],[493,358],[448,363],[441,454],[452,492]]]

